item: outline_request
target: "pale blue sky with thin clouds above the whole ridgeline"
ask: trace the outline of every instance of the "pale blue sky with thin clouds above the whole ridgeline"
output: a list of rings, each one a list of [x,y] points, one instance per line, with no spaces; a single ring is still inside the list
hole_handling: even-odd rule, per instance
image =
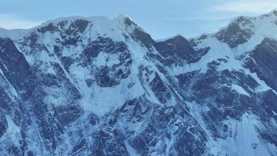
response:
[[[277,0],[8,0],[1,2],[0,27],[31,28],[57,17],[127,14],[155,39],[175,34],[212,33],[239,15],[257,16],[277,8]]]

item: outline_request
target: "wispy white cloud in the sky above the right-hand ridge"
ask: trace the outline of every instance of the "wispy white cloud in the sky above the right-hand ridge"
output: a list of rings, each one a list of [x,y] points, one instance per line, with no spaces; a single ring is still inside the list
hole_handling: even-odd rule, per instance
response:
[[[276,0],[218,1],[213,5],[207,5],[203,10],[187,12],[185,14],[167,17],[165,19],[168,21],[222,21],[240,15],[261,15],[276,8]]]

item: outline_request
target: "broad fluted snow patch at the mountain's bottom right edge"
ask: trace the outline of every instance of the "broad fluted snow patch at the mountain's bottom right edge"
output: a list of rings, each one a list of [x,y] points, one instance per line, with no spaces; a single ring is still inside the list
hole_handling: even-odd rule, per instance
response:
[[[228,137],[214,142],[216,147],[230,155],[270,155],[256,132],[256,127],[261,127],[261,124],[254,115],[245,113],[240,121],[229,119],[225,124],[228,125]]]

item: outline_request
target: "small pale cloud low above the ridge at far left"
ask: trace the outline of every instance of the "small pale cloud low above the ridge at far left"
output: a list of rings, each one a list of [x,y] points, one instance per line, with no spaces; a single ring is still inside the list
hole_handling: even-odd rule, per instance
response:
[[[12,14],[0,14],[0,27],[5,29],[29,29],[42,22],[30,21]]]

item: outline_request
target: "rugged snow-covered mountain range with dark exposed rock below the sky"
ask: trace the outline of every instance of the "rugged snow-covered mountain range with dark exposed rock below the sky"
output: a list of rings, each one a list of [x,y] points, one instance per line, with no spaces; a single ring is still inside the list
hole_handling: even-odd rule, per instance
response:
[[[0,155],[277,155],[277,11],[154,41],[126,15],[0,29]]]

